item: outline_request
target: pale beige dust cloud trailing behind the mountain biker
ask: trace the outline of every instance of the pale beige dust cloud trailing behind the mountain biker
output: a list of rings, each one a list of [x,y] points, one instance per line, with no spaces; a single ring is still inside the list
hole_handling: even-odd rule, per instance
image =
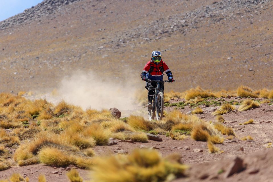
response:
[[[95,73],[77,73],[61,82],[57,94],[65,101],[83,109],[133,109],[136,88],[131,83],[115,83]]]

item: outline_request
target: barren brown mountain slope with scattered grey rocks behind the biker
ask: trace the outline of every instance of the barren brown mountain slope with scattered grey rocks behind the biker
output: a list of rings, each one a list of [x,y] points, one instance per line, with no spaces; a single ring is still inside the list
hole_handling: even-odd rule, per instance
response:
[[[272,1],[45,2],[1,22],[1,91],[54,88],[78,70],[136,82],[155,49],[169,90],[271,87]]]

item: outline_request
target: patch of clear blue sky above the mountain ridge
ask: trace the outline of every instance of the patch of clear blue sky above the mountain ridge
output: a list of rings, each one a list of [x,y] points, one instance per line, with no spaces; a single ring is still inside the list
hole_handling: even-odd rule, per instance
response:
[[[43,0],[0,0],[0,21],[3,21],[25,9],[41,3]]]

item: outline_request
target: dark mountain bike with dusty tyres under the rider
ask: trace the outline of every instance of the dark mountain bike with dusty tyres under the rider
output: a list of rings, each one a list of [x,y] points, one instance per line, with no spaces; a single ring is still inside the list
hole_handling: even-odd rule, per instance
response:
[[[143,80],[143,79],[142,79]],[[175,81],[175,80],[173,80]],[[163,117],[164,111],[164,94],[163,88],[160,88],[159,83],[169,82],[169,80],[147,80],[149,83],[157,83],[154,87],[154,96],[152,100],[152,109],[148,109],[149,120],[151,121],[156,117],[156,120],[160,120]]]

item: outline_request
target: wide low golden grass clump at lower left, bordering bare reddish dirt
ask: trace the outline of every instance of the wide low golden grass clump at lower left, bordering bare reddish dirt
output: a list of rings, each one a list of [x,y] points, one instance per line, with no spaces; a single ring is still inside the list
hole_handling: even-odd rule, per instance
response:
[[[71,155],[52,147],[42,148],[38,153],[38,158],[40,162],[56,167],[65,167],[70,164],[75,164],[75,158]]]

